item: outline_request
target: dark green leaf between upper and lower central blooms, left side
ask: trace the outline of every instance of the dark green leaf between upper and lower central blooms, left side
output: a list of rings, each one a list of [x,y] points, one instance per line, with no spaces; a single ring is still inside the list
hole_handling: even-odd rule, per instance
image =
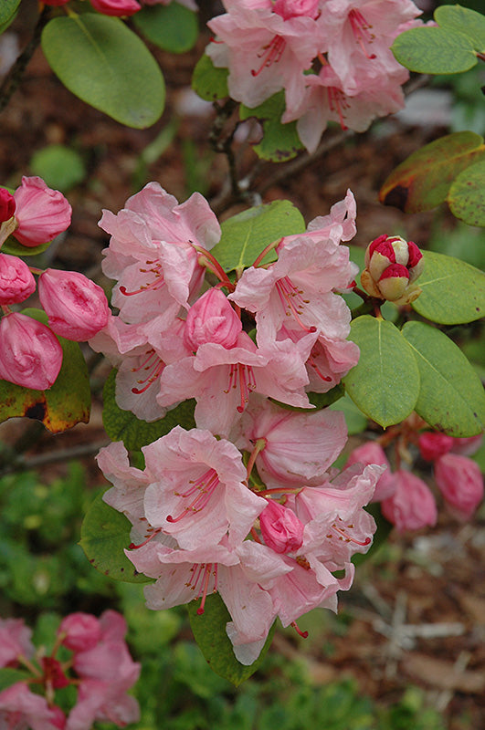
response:
[[[142,446],[153,443],[180,424],[186,429],[195,428],[195,401],[184,401],[164,418],[148,423],[137,418],[131,411],[123,411],[116,402],[116,373],[111,373],[104,385],[102,422],[111,441],[122,441],[130,451],[140,451]]]

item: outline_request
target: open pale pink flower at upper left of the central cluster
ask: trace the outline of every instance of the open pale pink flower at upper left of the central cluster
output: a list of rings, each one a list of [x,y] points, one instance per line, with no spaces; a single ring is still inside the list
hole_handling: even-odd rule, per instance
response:
[[[206,269],[194,245],[210,250],[220,238],[216,215],[194,193],[178,203],[158,183],[132,195],[119,214],[103,211],[100,227],[111,234],[103,271],[117,279],[112,303],[125,322],[162,317],[170,327],[179,309],[200,289]]]

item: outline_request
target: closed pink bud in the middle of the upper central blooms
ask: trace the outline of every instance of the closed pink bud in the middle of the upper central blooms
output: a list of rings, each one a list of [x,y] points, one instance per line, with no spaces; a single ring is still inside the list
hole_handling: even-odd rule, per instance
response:
[[[241,320],[220,289],[209,289],[189,309],[185,344],[194,352],[207,342],[230,349],[242,330]]]

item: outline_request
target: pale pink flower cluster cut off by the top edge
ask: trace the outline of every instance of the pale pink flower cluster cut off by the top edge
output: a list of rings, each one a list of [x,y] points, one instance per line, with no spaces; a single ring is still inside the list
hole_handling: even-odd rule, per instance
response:
[[[314,151],[329,121],[364,131],[404,106],[408,78],[390,47],[420,24],[412,0],[223,0],[227,13],[207,24],[206,48],[228,68],[229,94],[249,108],[285,90],[282,122],[298,120]]]

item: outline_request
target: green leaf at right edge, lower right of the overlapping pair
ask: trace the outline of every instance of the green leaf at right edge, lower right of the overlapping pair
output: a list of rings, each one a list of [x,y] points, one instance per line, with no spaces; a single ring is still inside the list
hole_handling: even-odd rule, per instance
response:
[[[439,329],[407,322],[403,335],[413,349],[421,386],[416,412],[429,425],[450,436],[482,433],[485,394],[469,360]]]

